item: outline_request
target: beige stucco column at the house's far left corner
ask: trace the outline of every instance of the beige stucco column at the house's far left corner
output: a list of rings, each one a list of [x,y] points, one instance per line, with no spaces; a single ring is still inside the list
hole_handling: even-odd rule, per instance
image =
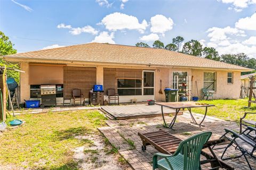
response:
[[[29,63],[20,63],[20,70],[25,71],[25,73],[20,73],[20,101],[23,102],[24,99],[29,100],[30,98]]]

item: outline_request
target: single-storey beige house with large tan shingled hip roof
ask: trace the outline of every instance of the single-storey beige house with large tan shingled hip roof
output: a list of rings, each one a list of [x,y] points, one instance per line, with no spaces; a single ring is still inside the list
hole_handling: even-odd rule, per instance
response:
[[[120,102],[131,99],[164,101],[159,90],[180,89],[179,95],[202,97],[202,88],[214,98],[239,98],[245,67],[207,60],[165,49],[89,43],[3,56],[19,63],[20,99],[39,98],[41,84],[57,84],[58,103],[78,88],[86,98],[94,84],[115,89]],[[161,83],[162,81],[162,83]],[[198,91],[198,92],[197,92]]]

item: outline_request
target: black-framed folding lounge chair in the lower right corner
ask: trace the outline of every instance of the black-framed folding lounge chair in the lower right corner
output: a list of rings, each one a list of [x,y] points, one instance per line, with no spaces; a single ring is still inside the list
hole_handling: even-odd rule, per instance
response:
[[[255,137],[255,135],[250,134],[251,132],[256,132],[256,128],[247,126],[247,128],[241,134],[238,134],[229,129],[225,129],[225,132],[226,133],[223,134],[221,136],[221,138],[228,139],[230,142],[228,143],[227,147],[217,148],[217,149],[225,148],[225,150],[223,151],[223,153],[221,155],[221,159],[227,160],[227,159],[239,158],[239,157],[244,156],[249,168],[252,170],[252,167],[251,167],[246,155],[249,155],[252,158],[256,158],[253,155],[253,153],[256,151],[256,137]],[[231,134],[231,135],[227,135],[227,134]],[[227,143],[225,143],[225,144],[227,144]],[[241,151],[241,155],[233,156],[233,157],[224,157],[227,149],[231,146],[233,146],[236,150]]]

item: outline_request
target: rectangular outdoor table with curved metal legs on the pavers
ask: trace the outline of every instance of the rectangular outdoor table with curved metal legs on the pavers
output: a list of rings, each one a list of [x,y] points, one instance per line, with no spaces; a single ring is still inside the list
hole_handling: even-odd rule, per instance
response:
[[[170,123],[169,125],[169,128],[172,129],[175,121],[176,121],[176,118],[177,118],[177,115],[178,113],[180,112],[180,109],[185,109],[187,108],[189,113],[190,113],[190,116],[191,116],[191,119],[193,122],[191,123],[194,123],[196,125],[199,125],[199,126],[204,126],[202,125],[202,123],[204,122],[204,119],[206,117],[206,114],[207,114],[207,108],[208,107],[211,107],[211,106],[215,106],[215,105],[209,105],[209,104],[200,104],[200,103],[196,103],[195,101],[184,101],[184,102],[161,102],[161,103],[156,103],[156,105],[159,105],[161,106],[161,111],[162,111],[162,116],[163,116],[163,120],[164,120],[164,125],[167,126],[166,122],[165,122],[165,119],[164,119],[164,112],[163,112],[163,107],[168,107],[168,108],[172,108],[172,109],[175,109],[175,116],[173,117],[172,119],[172,122]],[[205,107],[205,113],[204,113],[204,117],[203,117],[203,120],[198,124],[191,112],[191,108],[194,108],[194,107]]]

